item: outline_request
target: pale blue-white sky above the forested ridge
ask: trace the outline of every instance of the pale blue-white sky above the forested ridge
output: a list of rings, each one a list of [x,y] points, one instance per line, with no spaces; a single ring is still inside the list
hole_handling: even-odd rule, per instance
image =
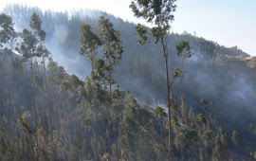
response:
[[[43,10],[100,9],[124,20],[140,23],[131,0],[0,0],[0,10],[19,3]],[[178,0],[172,30],[186,30],[220,45],[237,45],[256,56],[256,0]]]

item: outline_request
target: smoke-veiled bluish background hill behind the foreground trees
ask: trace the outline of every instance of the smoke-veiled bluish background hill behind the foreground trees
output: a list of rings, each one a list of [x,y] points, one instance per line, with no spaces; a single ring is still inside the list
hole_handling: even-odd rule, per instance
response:
[[[129,90],[141,103],[155,106],[157,98],[165,106],[162,51],[157,45],[137,45],[135,24],[99,10],[43,12],[18,5],[4,9],[13,18],[19,31],[24,27],[29,28],[28,21],[33,11],[42,18],[47,35],[46,46],[51,51],[53,60],[64,65],[68,73],[76,74],[82,80],[89,74],[90,64],[79,54],[80,27],[82,23],[88,23],[97,32],[99,17],[102,14],[107,16],[120,31],[124,49],[122,60],[115,68],[120,88]],[[197,111],[201,110],[200,98],[212,100],[215,103],[212,113],[218,116],[220,124],[228,129],[235,126],[239,133],[248,135],[248,124],[255,122],[253,115],[256,113],[254,58],[250,58],[237,46],[218,45],[186,31],[181,35],[172,33],[169,36],[171,73],[179,67],[177,64],[181,61],[176,57],[174,46],[183,40],[190,42],[194,54],[184,64],[187,71],[184,80],[174,83],[175,98],[179,100],[181,94],[184,94],[188,106]]]

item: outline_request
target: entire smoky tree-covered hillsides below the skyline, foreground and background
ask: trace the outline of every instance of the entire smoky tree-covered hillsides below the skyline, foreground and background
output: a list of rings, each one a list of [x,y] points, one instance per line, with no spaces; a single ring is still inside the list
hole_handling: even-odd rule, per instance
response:
[[[186,31],[144,34],[155,30],[97,10],[7,6],[0,160],[256,159],[255,59]]]

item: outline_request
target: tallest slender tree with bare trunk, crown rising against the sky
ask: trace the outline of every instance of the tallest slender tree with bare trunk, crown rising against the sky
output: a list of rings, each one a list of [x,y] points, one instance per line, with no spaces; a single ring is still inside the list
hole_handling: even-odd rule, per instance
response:
[[[168,34],[172,22],[174,21],[173,12],[176,9],[174,4],[176,0],[133,0],[130,8],[133,10],[137,18],[143,18],[147,23],[152,23],[155,26],[151,28],[151,35],[155,39],[155,44],[160,43],[162,46],[162,52],[165,63],[165,76],[167,85],[167,108],[168,108],[168,123],[169,123],[169,160],[172,159],[172,129],[171,129],[171,87],[174,84],[174,80],[171,83],[169,78],[169,48],[168,48]],[[137,35],[141,38],[138,42],[140,45],[149,43],[147,28],[141,25],[136,27]],[[190,46],[186,42],[182,42],[176,46],[178,56],[183,55],[183,51],[190,50]],[[186,54],[190,55],[190,52]],[[174,79],[181,76],[182,70],[178,68],[174,72]]]

